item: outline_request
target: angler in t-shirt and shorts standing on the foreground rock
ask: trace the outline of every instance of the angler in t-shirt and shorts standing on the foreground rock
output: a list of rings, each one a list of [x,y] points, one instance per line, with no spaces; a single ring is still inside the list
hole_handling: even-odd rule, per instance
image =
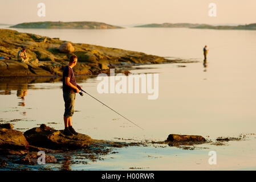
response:
[[[72,127],[71,118],[74,114],[74,105],[76,93],[82,88],[76,84],[73,67],[78,62],[78,57],[73,55],[70,57],[70,63],[63,70],[63,98],[65,102],[64,112],[64,135],[77,135],[76,131]]]

